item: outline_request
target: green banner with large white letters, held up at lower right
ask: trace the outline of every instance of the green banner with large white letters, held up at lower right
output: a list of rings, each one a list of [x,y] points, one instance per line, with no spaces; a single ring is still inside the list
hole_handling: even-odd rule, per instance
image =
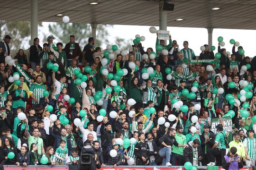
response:
[[[225,125],[224,129],[227,136],[227,141],[231,142],[233,140],[232,138],[232,119],[231,116],[226,116],[222,118],[222,121]],[[220,124],[219,118],[211,119],[211,126],[210,130],[216,135],[217,134],[217,125]]]

